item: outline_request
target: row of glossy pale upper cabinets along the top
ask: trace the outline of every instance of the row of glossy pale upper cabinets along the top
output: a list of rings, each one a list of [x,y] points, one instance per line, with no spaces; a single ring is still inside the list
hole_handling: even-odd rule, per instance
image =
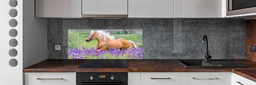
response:
[[[226,0],[35,0],[35,17],[219,18]]]

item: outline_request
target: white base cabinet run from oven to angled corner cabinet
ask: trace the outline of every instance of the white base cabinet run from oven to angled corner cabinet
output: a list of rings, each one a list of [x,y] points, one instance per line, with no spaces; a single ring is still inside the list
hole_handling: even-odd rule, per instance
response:
[[[232,85],[230,72],[128,73],[128,85]]]

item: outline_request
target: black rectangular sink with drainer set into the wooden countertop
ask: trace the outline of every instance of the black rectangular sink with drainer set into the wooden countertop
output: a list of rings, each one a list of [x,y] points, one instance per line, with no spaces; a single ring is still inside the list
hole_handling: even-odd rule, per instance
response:
[[[246,66],[237,64],[235,62],[231,62],[229,60],[224,59],[211,59],[211,60],[203,60],[203,59],[176,59],[181,65],[186,68],[202,68],[202,67],[226,67],[226,68],[245,68]]]

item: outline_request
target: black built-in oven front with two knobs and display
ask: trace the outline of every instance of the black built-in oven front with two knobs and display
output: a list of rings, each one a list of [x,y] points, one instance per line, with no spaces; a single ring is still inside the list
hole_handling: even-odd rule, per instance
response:
[[[128,73],[76,73],[76,85],[128,85]]]

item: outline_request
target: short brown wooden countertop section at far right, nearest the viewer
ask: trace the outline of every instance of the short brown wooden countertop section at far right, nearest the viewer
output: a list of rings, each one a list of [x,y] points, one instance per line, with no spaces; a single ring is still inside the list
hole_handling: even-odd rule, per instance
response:
[[[233,69],[233,73],[256,82],[256,69]]]

